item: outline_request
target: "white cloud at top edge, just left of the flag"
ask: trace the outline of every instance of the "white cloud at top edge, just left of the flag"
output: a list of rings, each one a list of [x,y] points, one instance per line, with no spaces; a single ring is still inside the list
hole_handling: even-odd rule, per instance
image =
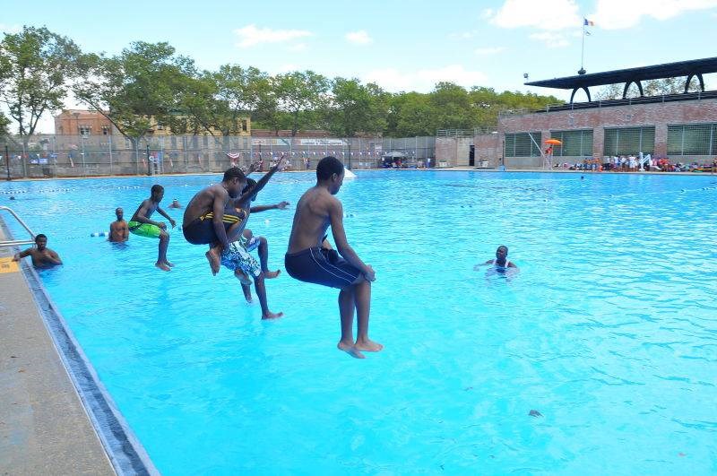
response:
[[[623,0],[623,4],[627,3]],[[505,4],[489,18],[491,23],[501,28],[564,30],[578,28],[583,24],[574,0],[505,0]]]

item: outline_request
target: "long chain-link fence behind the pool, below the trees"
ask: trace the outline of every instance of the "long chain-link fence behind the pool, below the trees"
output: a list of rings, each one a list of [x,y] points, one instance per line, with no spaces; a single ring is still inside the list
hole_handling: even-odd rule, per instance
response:
[[[218,173],[285,157],[289,169],[315,169],[333,155],[350,169],[431,167],[435,137],[298,138],[166,135],[38,135],[0,140],[0,170],[12,178]]]

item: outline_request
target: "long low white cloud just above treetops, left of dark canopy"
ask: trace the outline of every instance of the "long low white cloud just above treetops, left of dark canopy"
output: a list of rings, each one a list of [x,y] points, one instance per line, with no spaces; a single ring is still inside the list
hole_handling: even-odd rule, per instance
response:
[[[433,90],[436,82],[455,82],[470,88],[485,83],[487,76],[479,71],[467,71],[462,65],[447,65],[419,71],[399,71],[396,68],[376,69],[364,74],[361,79],[363,82],[376,82],[386,91],[428,92]]]

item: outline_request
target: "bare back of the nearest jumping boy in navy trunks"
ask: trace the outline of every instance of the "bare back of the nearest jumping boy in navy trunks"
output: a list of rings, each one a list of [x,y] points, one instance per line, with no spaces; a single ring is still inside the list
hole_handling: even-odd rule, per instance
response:
[[[331,224],[330,209],[337,205],[341,206],[339,200],[324,187],[309,188],[297,203],[287,253],[321,247],[324,233]]]

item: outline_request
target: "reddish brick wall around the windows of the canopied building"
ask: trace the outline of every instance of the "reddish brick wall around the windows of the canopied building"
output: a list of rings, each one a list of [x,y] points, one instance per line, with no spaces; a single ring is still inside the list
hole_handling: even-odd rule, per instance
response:
[[[592,129],[592,155],[602,157],[605,127],[654,125],[655,156],[664,157],[667,156],[668,125],[709,122],[717,122],[717,100],[635,104],[505,116],[498,119],[498,134],[502,143],[505,133],[542,131],[543,138],[547,138],[550,130]],[[497,156],[492,160],[498,160],[500,153],[498,146]],[[564,159],[566,158],[560,158]]]

